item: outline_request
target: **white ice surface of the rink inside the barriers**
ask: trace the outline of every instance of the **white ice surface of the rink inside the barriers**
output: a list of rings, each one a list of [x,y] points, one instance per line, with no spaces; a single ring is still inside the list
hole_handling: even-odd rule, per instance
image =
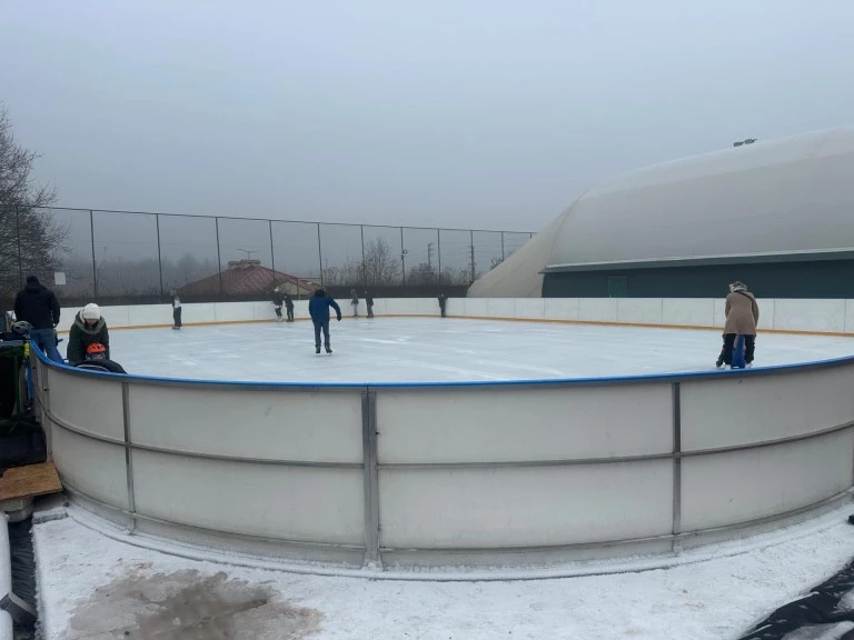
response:
[[[331,322],[315,354],[310,322],[113,330],[129,373],[281,382],[434,382],[596,378],[714,370],[719,331],[433,318]],[[755,366],[854,354],[854,339],[759,333]]]

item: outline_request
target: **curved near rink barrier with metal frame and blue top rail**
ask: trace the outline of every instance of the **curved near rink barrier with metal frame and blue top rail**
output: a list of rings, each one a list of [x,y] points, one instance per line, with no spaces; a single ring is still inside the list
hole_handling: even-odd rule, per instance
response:
[[[192,548],[376,569],[673,553],[838,507],[854,483],[851,357],[329,384],[118,376],[33,352],[71,499]]]

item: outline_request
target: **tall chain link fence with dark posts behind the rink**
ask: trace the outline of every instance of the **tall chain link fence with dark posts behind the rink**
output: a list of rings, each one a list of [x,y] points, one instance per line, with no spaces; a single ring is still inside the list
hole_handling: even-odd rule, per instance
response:
[[[0,300],[27,276],[64,306],[465,294],[533,233],[99,211],[0,209]]]

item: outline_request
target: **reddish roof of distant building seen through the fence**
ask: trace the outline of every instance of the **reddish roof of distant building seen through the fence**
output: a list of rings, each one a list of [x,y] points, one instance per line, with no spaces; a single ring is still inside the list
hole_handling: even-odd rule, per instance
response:
[[[221,287],[225,296],[268,296],[274,287],[279,287],[282,293],[306,296],[318,289],[314,282],[268,269],[260,260],[229,261],[228,269],[221,273]],[[185,284],[178,293],[185,297],[218,296],[220,273]]]

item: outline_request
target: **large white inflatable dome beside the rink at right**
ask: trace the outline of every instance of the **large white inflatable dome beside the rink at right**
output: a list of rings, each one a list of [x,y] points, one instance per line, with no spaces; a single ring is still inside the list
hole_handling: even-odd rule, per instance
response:
[[[469,297],[540,297],[544,272],[851,251],[854,128],[758,141],[626,173],[576,200]]]

